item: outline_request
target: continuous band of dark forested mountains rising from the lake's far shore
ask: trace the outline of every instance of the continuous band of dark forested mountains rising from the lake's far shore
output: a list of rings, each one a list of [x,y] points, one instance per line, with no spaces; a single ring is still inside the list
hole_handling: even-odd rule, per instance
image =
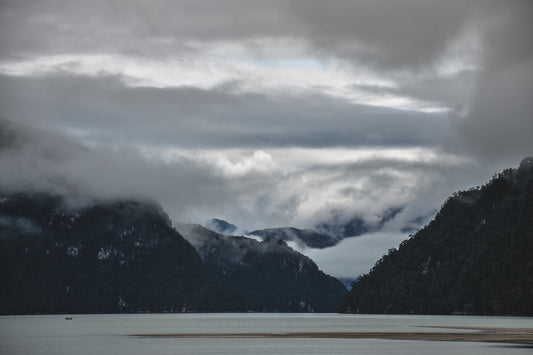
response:
[[[532,201],[533,158],[454,194],[358,277],[341,311],[532,315]],[[176,227],[150,202],[2,193],[0,313],[334,312],[346,294],[268,233]]]

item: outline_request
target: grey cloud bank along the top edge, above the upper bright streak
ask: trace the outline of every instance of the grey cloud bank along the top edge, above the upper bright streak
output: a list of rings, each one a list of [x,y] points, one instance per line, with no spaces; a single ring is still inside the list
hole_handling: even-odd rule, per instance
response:
[[[5,55],[190,49],[184,41],[305,40],[316,53],[382,68],[424,67],[463,28],[465,1],[5,2]],[[167,40],[167,42],[165,42]],[[264,53],[268,55],[268,53]]]

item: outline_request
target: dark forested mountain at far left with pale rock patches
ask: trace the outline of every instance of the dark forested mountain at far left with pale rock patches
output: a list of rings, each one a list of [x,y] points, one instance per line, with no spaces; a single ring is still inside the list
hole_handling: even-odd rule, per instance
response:
[[[0,198],[0,314],[245,310],[154,204]]]

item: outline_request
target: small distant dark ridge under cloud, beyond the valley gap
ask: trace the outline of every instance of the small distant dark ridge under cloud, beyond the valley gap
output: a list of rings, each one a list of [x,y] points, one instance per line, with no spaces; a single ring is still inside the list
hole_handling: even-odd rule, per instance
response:
[[[300,247],[309,248],[327,248],[337,244],[338,240],[322,233],[315,232],[309,229],[298,228],[268,228],[256,230],[250,233],[256,235],[263,240],[265,239],[280,239],[283,241],[292,241],[298,244]]]

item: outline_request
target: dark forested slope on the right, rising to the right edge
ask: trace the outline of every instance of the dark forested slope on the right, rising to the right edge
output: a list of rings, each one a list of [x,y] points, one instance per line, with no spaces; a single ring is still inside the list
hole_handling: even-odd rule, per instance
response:
[[[533,159],[449,198],[360,278],[342,312],[533,315]]]

